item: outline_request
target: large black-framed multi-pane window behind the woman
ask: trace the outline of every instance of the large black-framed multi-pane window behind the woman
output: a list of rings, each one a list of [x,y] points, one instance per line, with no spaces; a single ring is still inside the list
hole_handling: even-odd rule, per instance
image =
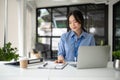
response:
[[[80,10],[84,15],[84,25],[94,34],[97,45],[108,44],[107,9],[105,4],[84,4],[37,9],[36,42],[50,45],[50,58],[58,50],[60,36],[68,31],[67,14]]]

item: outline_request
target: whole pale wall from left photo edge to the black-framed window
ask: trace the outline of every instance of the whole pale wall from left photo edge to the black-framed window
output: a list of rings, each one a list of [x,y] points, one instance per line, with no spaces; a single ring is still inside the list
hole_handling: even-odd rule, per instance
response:
[[[35,42],[35,6],[27,6],[23,4],[24,0],[8,0],[8,17],[7,17],[7,42],[11,42],[13,47],[18,48],[18,53],[27,56],[27,53],[34,47]],[[5,18],[5,0],[0,0],[0,47],[4,44],[4,18]],[[21,2],[21,3],[19,3]],[[20,11],[24,12],[20,12]],[[29,13],[28,13],[29,12]],[[27,19],[26,19],[27,18]],[[20,24],[19,24],[20,21]],[[22,25],[22,26],[21,26]],[[23,30],[21,30],[22,27]],[[34,28],[34,29],[33,29]],[[19,35],[19,33],[23,33]],[[21,40],[23,38],[23,42]],[[33,39],[34,38],[34,39]],[[21,44],[24,49],[20,49]],[[24,51],[21,51],[24,50]],[[22,52],[22,53],[20,53]]]

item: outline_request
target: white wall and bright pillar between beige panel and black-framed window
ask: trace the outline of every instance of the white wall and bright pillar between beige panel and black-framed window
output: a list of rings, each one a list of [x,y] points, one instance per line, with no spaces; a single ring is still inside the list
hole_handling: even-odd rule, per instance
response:
[[[28,52],[33,48],[35,41],[32,38],[35,32],[36,7],[27,4],[25,0],[18,0],[18,38],[20,56],[28,56]]]

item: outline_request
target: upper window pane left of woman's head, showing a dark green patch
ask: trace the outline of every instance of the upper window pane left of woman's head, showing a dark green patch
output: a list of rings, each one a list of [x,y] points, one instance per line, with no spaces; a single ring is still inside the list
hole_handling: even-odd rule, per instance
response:
[[[61,36],[67,32],[67,8],[53,8],[52,36]]]

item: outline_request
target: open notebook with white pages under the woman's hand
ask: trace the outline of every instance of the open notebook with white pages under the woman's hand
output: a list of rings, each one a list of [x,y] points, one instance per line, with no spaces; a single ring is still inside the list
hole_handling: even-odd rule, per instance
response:
[[[44,62],[38,68],[39,69],[63,69],[67,63],[55,63],[52,61]]]

